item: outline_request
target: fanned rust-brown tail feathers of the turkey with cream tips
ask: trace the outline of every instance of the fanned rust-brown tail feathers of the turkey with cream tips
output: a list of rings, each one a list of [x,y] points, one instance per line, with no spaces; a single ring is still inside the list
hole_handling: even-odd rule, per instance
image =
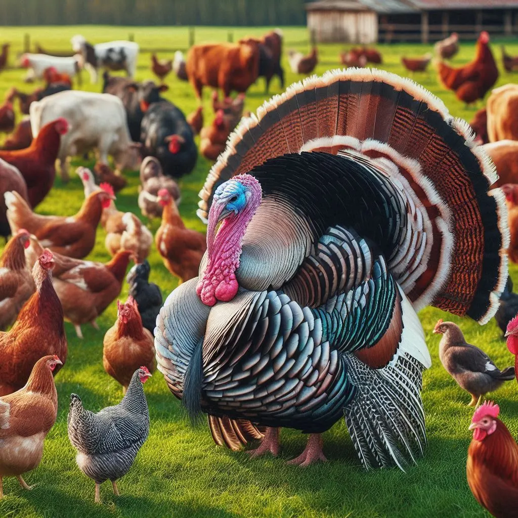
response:
[[[224,181],[301,151],[345,152],[389,176],[395,171],[404,191],[412,191],[416,220],[421,212],[429,221],[413,236],[422,239],[419,246],[389,265],[397,282],[416,309],[433,304],[481,324],[492,318],[507,279],[505,200],[498,189],[488,195],[494,165],[440,99],[381,70],[334,70],[295,83],[229,137],[200,191],[198,215],[207,218]],[[419,277],[405,284],[405,271],[415,269]]]

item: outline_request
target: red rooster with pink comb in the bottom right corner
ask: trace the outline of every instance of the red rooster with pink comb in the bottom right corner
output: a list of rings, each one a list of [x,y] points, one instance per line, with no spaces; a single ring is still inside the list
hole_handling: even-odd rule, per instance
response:
[[[466,473],[468,484],[482,507],[496,518],[518,514],[518,445],[506,425],[498,419],[500,408],[484,402],[469,425]]]

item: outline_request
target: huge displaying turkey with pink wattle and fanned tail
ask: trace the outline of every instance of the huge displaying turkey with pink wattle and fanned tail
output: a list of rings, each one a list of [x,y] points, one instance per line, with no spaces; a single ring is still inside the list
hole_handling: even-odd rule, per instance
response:
[[[494,315],[509,242],[495,179],[468,125],[408,79],[292,85],[241,121],[200,192],[200,277],[156,321],[169,389],[232,449],[266,427],[254,454],[275,454],[294,428],[306,466],[343,416],[365,468],[416,462],[431,364],[416,311]]]

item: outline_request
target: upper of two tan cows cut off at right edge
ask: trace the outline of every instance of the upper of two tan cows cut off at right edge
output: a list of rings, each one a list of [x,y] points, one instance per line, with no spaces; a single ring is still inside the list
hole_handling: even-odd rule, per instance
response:
[[[518,84],[495,88],[486,103],[490,142],[518,140]]]

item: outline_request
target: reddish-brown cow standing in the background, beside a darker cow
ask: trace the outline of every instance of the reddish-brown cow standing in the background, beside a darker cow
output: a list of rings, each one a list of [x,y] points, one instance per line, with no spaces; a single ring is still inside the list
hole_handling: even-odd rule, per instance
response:
[[[254,43],[193,45],[186,61],[198,100],[204,86],[221,88],[225,97],[233,90],[246,92],[259,74],[259,48]]]

